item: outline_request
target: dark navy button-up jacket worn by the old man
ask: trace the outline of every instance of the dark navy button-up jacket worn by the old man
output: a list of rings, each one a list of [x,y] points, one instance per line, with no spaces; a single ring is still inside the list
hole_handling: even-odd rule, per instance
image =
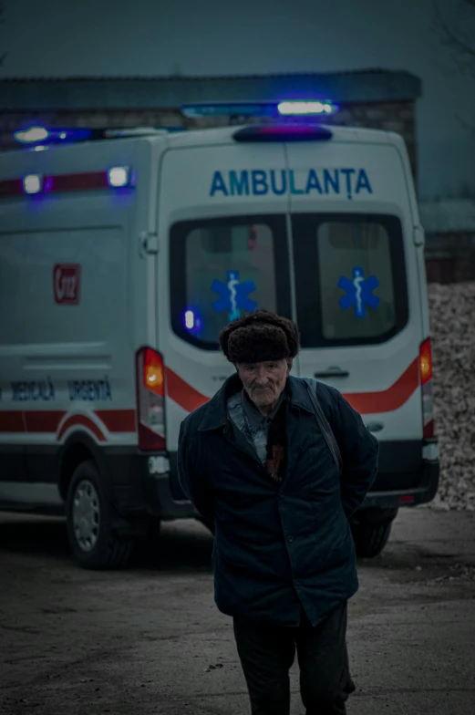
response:
[[[344,468],[336,464],[300,378],[288,378],[287,468],[274,482],[243,433],[227,399],[242,389],[233,375],[181,425],[181,487],[215,524],[214,597],[222,613],[283,625],[299,622],[300,604],[315,625],[358,588],[347,519],[377,473],[377,440],[333,388],[316,385]]]

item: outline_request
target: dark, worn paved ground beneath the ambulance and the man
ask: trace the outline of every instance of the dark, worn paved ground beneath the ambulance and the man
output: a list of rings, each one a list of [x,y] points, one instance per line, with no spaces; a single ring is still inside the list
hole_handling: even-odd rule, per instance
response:
[[[0,712],[249,713],[211,536],[176,522],[160,548],[126,572],[82,571],[64,523],[0,515]],[[348,715],[473,715],[475,514],[404,510],[359,573]],[[296,670],[292,687],[297,715]]]

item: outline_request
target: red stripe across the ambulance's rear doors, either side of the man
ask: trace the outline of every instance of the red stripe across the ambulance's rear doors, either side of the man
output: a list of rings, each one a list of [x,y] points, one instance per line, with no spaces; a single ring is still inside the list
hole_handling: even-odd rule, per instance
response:
[[[391,412],[408,401],[418,388],[418,358],[390,388],[378,392],[348,392],[343,395],[350,405],[362,415]],[[187,412],[192,412],[208,402],[210,398],[191,388],[173,370],[167,368],[167,392],[170,399]]]

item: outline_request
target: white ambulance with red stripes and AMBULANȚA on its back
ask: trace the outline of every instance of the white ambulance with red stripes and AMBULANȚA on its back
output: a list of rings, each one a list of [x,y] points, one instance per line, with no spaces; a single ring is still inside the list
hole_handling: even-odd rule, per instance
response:
[[[181,420],[232,374],[220,329],[264,307],[300,327],[294,374],[339,389],[380,441],[352,523],[357,553],[378,554],[398,508],[439,482],[403,140],[129,134],[0,154],[0,509],[66,513],[86,567],[125,565],[147,524],[196,517]]]

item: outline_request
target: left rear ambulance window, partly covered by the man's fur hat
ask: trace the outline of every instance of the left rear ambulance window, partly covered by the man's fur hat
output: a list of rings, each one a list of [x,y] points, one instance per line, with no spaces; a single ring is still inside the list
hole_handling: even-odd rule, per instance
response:
[[[285,217],[234,216],[175,223],[170,230],[173,331],[219,348],[224,326],[255,309],[290,315]]]

